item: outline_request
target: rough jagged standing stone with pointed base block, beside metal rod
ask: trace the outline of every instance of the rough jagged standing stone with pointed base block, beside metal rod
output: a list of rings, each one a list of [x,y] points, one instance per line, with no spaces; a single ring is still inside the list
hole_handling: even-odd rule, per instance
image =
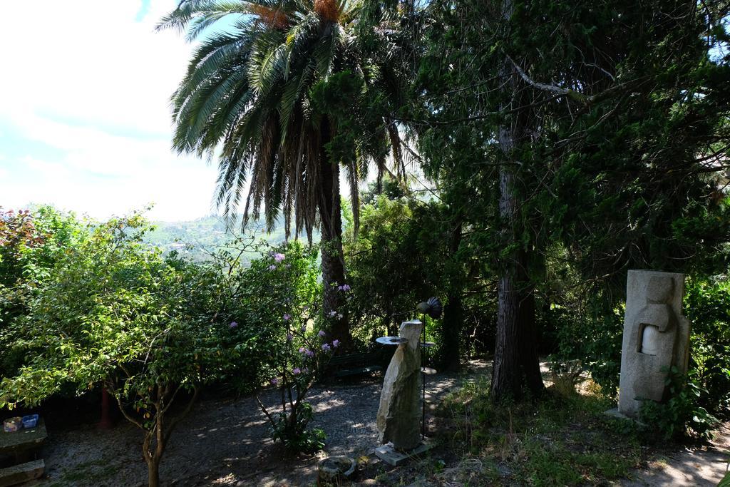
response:
[[[378,441],[393,443],[396,450],[412,450],[420,443],[422,412],[420,373],[420,320],[401,323],[400,336],[408,340],[393,353],[385,372],[377,410]]]

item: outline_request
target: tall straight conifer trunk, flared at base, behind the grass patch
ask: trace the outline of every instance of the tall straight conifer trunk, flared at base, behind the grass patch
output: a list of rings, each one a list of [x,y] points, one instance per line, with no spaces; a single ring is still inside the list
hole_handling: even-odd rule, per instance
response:
[[[512,0],[503,2],[503,18],[512,16]],[[529,112],[518,110],[528,101],[520,96],[520,77],[515,66],[504,60],[502,66],[504,89],[508,91],[507,103],[502,112],[512,112],[499,129],[499,146],[504,156],[499,169],[499,215],[502,218],[502,241],[505,245],[520,242],[520,219],[518,218],[517,177],[513,160],[515,148],[528,137]],[[534,396],[544,388],[539,375],[536,337],[534,333],[534,295],[527,266],[527,250],[523,244],[502,258],[498,289],[497,336],[492,369],[491,394],[494,401],[512,398],[520,399],[523,384]]]

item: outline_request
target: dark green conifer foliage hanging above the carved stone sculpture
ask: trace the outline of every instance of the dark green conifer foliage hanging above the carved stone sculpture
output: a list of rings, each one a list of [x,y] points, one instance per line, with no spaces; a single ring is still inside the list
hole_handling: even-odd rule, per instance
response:
[[[728,13],[723,1],[437,0],[412,18],[420,50],[399,115],[426,174],[484,276],[524,256],[545,348],[582,359],[609,394],[626,270],[727,269]]]

